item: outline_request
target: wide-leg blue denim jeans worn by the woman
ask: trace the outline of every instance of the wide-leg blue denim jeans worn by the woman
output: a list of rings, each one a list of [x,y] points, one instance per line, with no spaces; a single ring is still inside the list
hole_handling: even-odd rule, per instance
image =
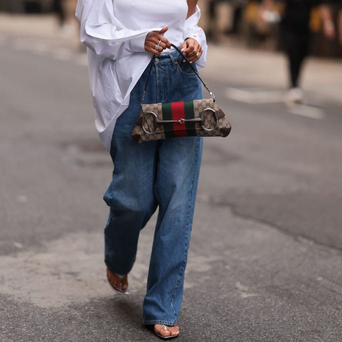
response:
[[[155,58],[145,103],[201,99],[201,85],[177,52]],[[181,137],[137,144],[130,134],[140,111],[148,70],[130,94],[111,140],[112,181],[103,199],[110,207],[104,229],[105,263],[128,273],[140,230],[158,207],[143,301],[145,324],[175,325],[183,295],[202,138]]]

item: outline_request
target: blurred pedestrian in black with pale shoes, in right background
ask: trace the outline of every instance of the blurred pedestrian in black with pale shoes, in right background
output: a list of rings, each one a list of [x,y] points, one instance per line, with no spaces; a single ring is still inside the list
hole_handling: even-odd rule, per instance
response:
[[[288,60],[290,89],[286,100],[300,103],[303,93],[299,87],[299,77],[303,61],[308,54],[310,13],[322,0],[285,0],[285,11],[280,22],[280,41]],[[262,11],[274,5],[273,0],[264,0]]]

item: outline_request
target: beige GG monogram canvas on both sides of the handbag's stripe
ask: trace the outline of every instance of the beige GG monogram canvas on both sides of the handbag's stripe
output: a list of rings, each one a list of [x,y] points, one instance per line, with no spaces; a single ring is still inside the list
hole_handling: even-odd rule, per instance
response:
[[[204,111],[208,108],[214,110],[215,112],[219,111],[219,108],[213,99],[193,100],[194,118],[201,118],[203,115],[203,126],[206,129],[212,129],[215,126],[216,127],[211,131],[206,131],[201,127],[202,124],[196,123],[195,134],[191,133],[189,135],[197,135],[202,137],[226,137],[231,129],[229,122],[224,116],[222,116],[217,120],[216,124],[215,114],[210,110]],[[162,120],[162,104],[154,103],[150,105],[142,105],[139,114],[140,122],[139,124],[136,124],[132,131],[132,138],[138,143],[143,143],[150,140],[165,139],[164,126],[160,124],[156,125],[154,123],[154,116],[152,114],[145,115],[148,112],[154,113],[159,120]],[[142,129],[141,125],[143,125],[147,132],[154,133],[146,133]]]

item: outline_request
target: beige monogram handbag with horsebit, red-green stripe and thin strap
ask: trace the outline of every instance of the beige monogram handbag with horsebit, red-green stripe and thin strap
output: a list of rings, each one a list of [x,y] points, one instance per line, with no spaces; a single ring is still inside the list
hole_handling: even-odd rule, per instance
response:
[[[210,98],[143,104],[153,65],[151,63],[140,101],[141,110],[131,133],[133,140],[137,143],[143,143],[151,140],[185,136],[226,137],[230,133],[231,125],[225,119],[223,111],[217,107],[214,94],[202,81],[182,52],[173,44],[171,46],[190,65],[204,88],[209,92]]]

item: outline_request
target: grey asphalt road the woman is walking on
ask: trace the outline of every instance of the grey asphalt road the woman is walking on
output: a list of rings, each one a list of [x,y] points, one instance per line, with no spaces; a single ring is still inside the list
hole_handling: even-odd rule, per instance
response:
[[[131,295],[105,280],[111,161],[84,56],[0,51],[0,340],[157,340],[140,322],[154,217]],[[341,104],[203,75],[233,129],[205,140],[177,340],[342,341]]]

